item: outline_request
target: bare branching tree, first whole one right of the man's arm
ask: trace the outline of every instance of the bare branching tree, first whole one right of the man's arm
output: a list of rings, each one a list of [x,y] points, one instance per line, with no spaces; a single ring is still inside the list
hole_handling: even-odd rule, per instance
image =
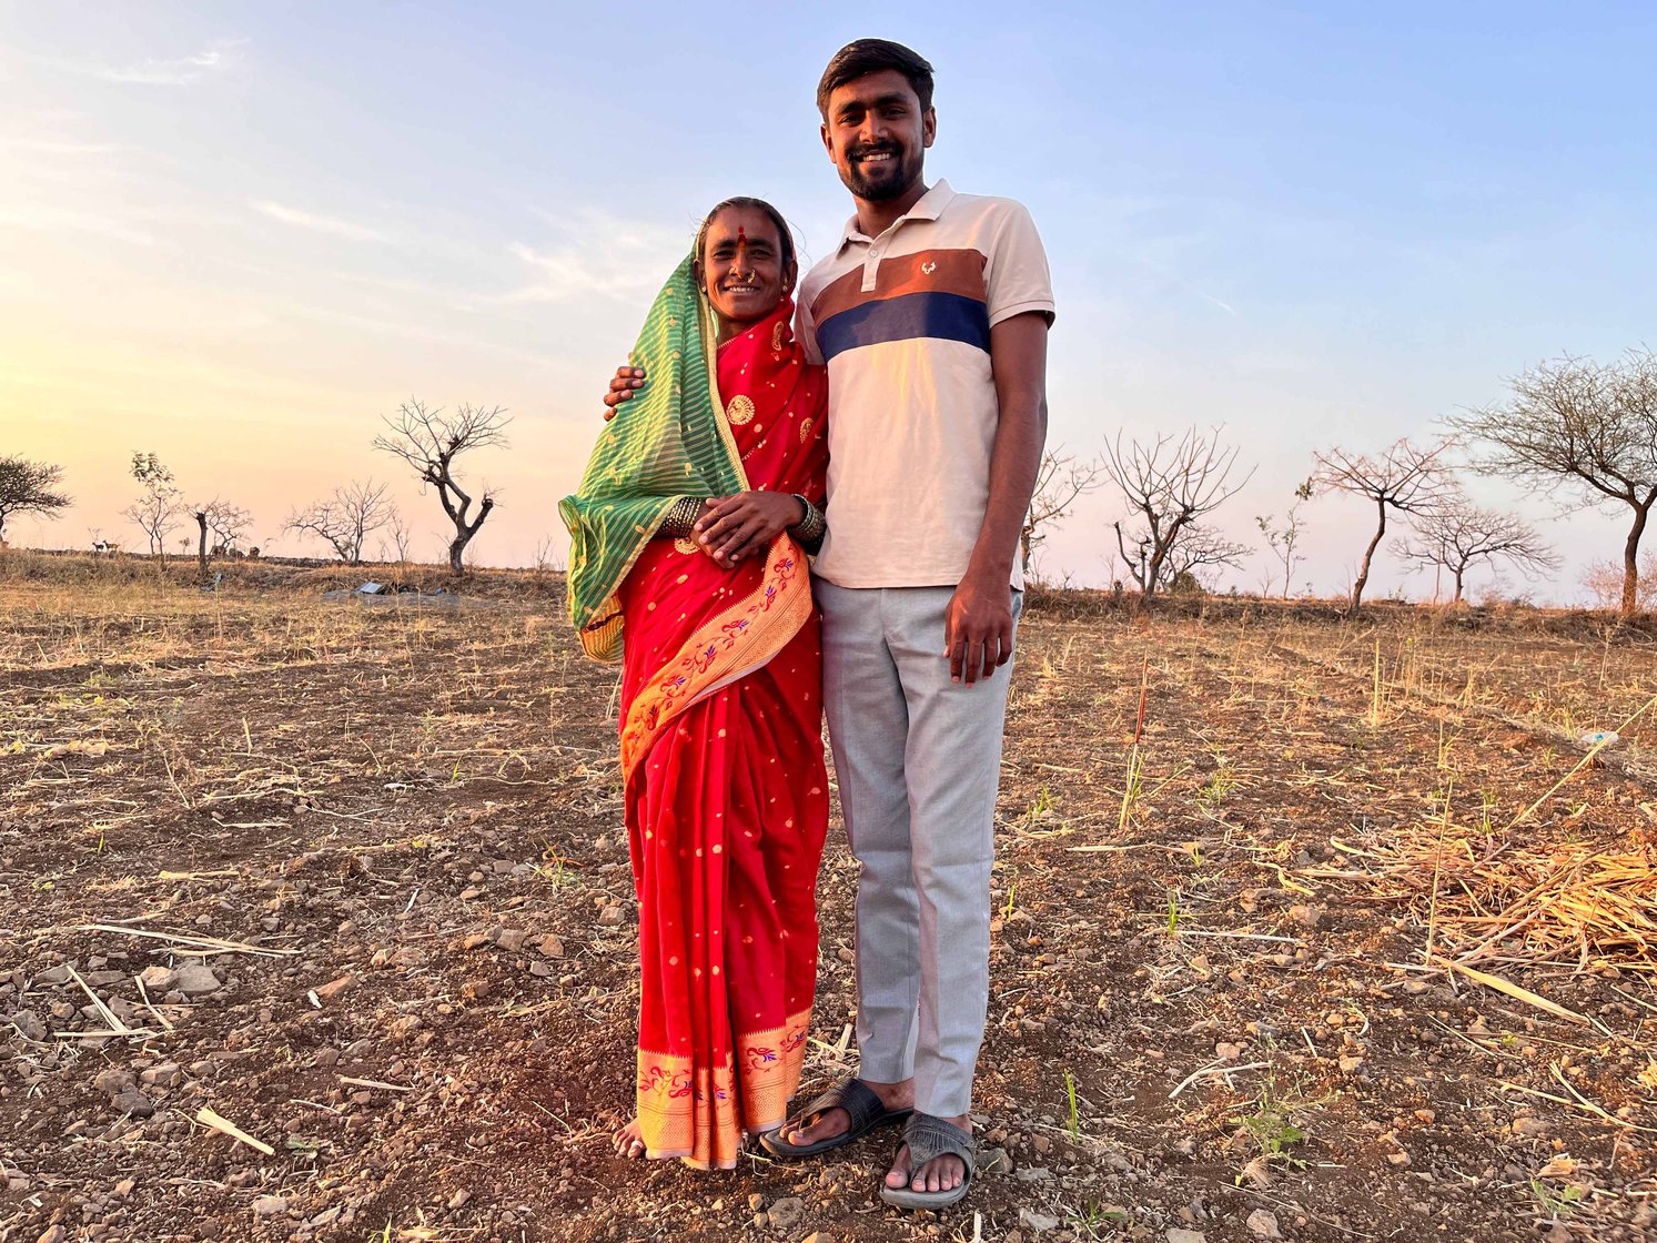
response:
[[[1104,471],[1132,510],[1130,530],[1115,524],[1117,552],[1147,598],[1173,580],[1168,559],[1196,520],[1225,504],[1254,474],[1249,467],[1231,482],[1238,446],[1223,447],[1220,433],[1221,428],[1210,434],[1191,428],[1178,439],[1158,436],[1152,444],[1130,441],[1125,447],[1118,433],[1105,446]],[[1130,544],[1138,549],[1137,559],[1128,552]]]

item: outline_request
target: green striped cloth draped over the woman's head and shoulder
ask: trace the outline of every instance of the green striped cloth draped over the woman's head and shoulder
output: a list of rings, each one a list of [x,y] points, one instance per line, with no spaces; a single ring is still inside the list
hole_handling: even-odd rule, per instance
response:
[[[605,426],[580,491],[558,502],[570,529],[570,622],[595,660],[621,656],[616,592],[668,510],[688,496],[747,489],[731,429],[716,413],[714,315],[691,260],[668,277],[633,346],[645,386]]]

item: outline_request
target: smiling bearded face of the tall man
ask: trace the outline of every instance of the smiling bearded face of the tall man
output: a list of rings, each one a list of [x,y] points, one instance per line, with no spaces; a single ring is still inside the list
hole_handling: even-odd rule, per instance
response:
[[[822,133],[845,187],[858,199],[885,202],[920,182],[936,129],[938,114],[921,111],[910,80],[882,70],[833,89]]]

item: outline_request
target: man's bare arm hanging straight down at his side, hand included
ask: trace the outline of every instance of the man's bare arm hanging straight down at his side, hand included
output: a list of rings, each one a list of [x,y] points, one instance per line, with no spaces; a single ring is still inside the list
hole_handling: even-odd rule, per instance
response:
[[[989,502],[966,575],[944,613],[949,678],[968,683],[1012,660],[1007,583],[1047,441],[1047,315],[1026,312],[994,325],[989,365],[999,403],[989,452]]]

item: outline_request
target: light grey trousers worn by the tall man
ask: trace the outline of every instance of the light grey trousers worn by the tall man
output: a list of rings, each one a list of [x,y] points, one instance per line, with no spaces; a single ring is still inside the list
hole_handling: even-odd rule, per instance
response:
[[[989,867],[1011,661],[949,681],[953,587],[817,580],[824,704],[857,883],[857,1047],[915,1107],[966,1114],[989,1004]],[[1017,618],[1022,592],[1012,595]]]

